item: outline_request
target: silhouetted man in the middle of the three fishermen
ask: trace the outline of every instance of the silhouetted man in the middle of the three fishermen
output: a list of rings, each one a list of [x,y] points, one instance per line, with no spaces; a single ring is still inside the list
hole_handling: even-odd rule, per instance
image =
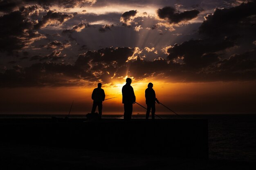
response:
[[[122,103],[124,104],[124,120],[130,120],[132,118],[132,104],[135,104],[136,97],[133,91],[132,86],[132,79],[126,79],[126,85],[122,88],[122,95],[123,100]]]

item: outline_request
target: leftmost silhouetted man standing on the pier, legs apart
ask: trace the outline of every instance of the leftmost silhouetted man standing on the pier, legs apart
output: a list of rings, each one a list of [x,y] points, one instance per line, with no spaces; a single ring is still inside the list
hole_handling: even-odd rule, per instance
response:
[[[102,115],[102,102],[105,100],[105,92],[101,88],[101,83],[98,83],[98,88],[94,88],[92,92],[92,113],[95,113],[96,107],[98,106],[99,110],[99,119],[101,119]]]

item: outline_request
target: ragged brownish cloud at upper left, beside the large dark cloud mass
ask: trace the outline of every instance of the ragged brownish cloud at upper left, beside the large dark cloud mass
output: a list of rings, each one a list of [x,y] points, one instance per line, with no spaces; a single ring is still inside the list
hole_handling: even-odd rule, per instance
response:
[[[63,24],[63,22],[73,18],[74,14],[64,14],[61,12],[48,11],[46,15],[42,16],[42,19],[34,25],[34,29],[42,29],[50,24]]]

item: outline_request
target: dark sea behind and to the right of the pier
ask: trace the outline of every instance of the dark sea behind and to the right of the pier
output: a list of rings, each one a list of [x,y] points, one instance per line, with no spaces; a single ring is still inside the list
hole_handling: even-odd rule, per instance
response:
[[[51,118],[66,115],[0,115],[0,118]],[[177,115],[159,115],[163,119],[180,119]],[[145,115],[132,115],[143,119]],[[256,161],[256,115],[182,115],[185,119],[208,119],[209,159]],[[85,118],[85,115],[70,115]],[[103,115],[123,119],[123,115]],[[159,117],[156,117],[159,119]]]

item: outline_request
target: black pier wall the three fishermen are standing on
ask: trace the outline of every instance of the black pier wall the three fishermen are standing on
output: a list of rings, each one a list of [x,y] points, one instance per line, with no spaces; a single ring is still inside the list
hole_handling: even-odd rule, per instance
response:
[[[206,119],[0,119],[3,143],[208,159]]]

